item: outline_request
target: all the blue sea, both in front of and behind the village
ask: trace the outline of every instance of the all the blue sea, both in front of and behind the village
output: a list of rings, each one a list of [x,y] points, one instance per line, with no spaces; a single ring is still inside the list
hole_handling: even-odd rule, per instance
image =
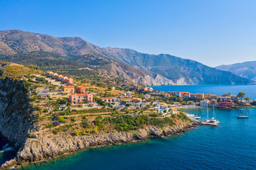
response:
[[[256,86],[154,86],[161,91],[189,91],[209,94],[238,94],[256,98]],[[182,111],[213,117],[213,109],[184,108]],[[247,108],[247,119],[238,119],[240,109],[215,108],[218,127],[199,125],[188,132],[146,142],[85,149],[64,159],[31,165],[25,169],[256,169],[256,109]],[[207,114],[208,113],[208,114]],[[0,141],[0,149],[6,145]],[[12,151],[0,153],[0,162]]]

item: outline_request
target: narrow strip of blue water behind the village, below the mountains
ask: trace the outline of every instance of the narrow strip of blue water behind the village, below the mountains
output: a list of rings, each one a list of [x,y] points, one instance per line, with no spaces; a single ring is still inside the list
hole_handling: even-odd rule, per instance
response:
[[[152,86],[154,90],[160,91],[188,91],[192,94],[238,94],[240,91],[245,92],[249,98],[256,98],[256,85],[181,85],[181,86]]]

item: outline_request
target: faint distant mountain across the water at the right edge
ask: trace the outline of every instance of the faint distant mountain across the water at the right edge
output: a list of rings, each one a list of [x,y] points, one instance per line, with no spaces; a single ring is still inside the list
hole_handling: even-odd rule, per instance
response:
[[[256,81],[256,61],[236,64],[220,65],[215,67],[223,71],[232,72],[240,77]]]

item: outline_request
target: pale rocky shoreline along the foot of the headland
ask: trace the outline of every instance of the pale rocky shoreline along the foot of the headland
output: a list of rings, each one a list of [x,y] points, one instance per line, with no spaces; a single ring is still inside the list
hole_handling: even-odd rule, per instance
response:
[[[43,137],[38,137],[38,139],[36,139],[37,142],[35,142],[35,140],[28,139],[23,148],[18,151],[17,156],[14,159],[1,165],[0,169],[18,168],[24,167],[28,164],[49,162],[53,159],[62,158],[70,154],[81,152],[84,149],[143,142],[155,137],[171,137],[174,135],[179,135],[182,132],[188,132],[192,128],[195,128],[197,125],[198,123],[196,122],[189,123],[186,121],[181,124],[174,125],[173,127],[168,126],[164,128],[157,128],[154,126],[147,126],[146,128],[139,129],[138,132],[116,131],[113,133],[102,132],[100,135],[82,137],[67,138],[63,137],[62,135],[55,137],[54,141],[57,142],[57,144],[59,142],[71,142],[65,145],[65,149],[62,149],[63,146],[57,147],[55,142],[49,143],[50,141],[43,140]],[[40,142],[40,140],[43,142]],[[81,141],[83,141],[83,143],[81,143]],[[46,147],[50,147],[51,151]],[[53,147],[56,147],[55,150],[52,150]],[[40,148],[43,148],[43,150],[40,150]]]

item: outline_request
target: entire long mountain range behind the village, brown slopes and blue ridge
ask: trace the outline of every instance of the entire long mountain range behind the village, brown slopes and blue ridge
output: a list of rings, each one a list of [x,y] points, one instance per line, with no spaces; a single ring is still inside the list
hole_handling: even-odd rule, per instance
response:
[[[78,37],[58,38],[22,30],[0,31],[0,55],[2,61],[36,64],[43,69],[61,69],[62,72],[72,70],[76,73],[89,68],[108,77],[146,85],[255,83],[180,57],[101,48]]]

